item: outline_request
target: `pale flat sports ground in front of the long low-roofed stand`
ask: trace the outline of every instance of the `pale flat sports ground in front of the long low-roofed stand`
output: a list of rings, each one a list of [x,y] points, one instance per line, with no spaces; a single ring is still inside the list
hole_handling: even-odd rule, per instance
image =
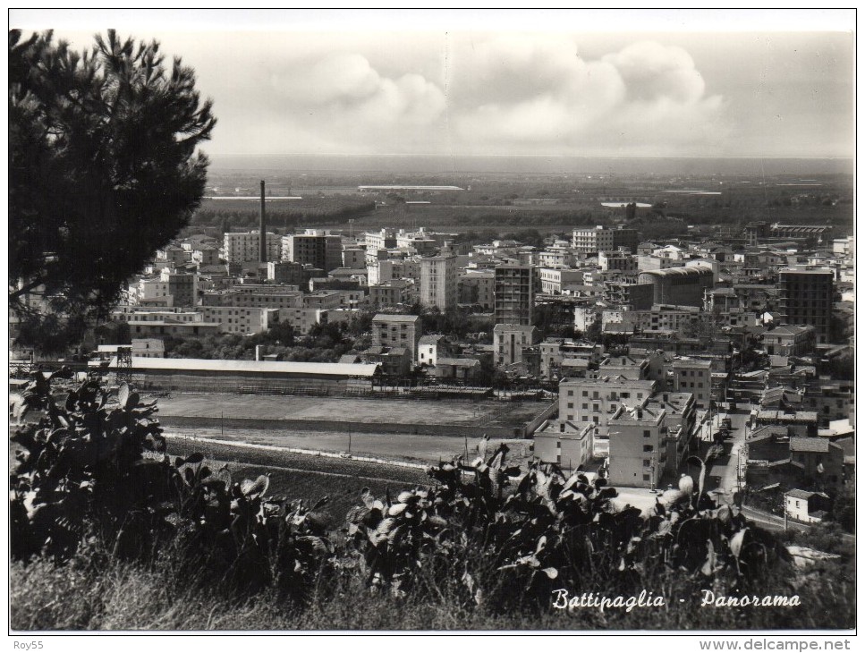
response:
[[[175,394],[159,399],[163,417],[321,420],[519,427],[544,409],[540,402],[351,399],[252,394]]]

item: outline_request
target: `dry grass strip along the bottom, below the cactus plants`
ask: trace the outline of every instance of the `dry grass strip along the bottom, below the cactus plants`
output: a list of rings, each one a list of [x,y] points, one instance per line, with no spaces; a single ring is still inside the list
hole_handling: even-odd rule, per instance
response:
[[[488,630],[649,630],[714,631],[850,629],[855,626],[852,570],[840,565],[815,568],[795,592],[800,607],[699,607],[688,579],[648,578],[647,587],[681,604],[624,610],[525,606],[496,614],[486,606],[463,605],[445,587],[439,593],[394,598],[372,593],[357,575],[337,581],[332,598],[293,606],[270,593],[256,598],[226,597],[216,589],[172,577],[169,566],[143,568],[108,561],[90,564],[88,555],[58,568],[45,561],[10,570],[11,627],[14,631],[488,631]],[[92,561],[91,561],[92,562]],[[777,579],[762,590],[790,595]]]

